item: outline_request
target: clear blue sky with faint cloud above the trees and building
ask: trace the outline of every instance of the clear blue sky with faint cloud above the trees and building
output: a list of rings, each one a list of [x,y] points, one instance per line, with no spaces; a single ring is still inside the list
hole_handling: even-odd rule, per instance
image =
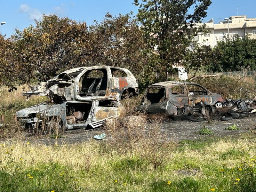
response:
[[[24,29],[34,24],[34,19],[40,19],[42,14],[57,14],[72,20],[85,21],[88,25],[93,20],[101,21],[106,14],[118,15],[133,11],[138,8],[132,4],[133,0],[13,0],[1,1],[0,22],[7,22],[0,27],[1,34],[7,37],[15,32],[15,28]],[[233,15],[247,15],[256,18],[256,0],[212,0],[204,20],[226,18]]]

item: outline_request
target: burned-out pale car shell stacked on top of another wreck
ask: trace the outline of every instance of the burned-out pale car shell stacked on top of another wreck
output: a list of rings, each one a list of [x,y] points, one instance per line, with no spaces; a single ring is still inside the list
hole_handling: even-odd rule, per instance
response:
[[[122,99],[127,94],[134,96],[138,92],[137,80],[128,69],[94,66],[64,71],[22,95],[27,96],[27,100],[31,95],[49,96],[58,103],[99,100],[113,95]]]

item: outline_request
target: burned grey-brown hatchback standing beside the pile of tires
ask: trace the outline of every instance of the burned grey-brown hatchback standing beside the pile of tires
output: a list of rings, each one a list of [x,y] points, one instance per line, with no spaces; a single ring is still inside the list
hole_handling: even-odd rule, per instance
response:
[[[149,85],[137,110],[172,116],[177,115],[177,110],[184,105],[193,107],[201,100],[205,104],[214,104],[222,101],[222,97],[196,83],[166,81]]]

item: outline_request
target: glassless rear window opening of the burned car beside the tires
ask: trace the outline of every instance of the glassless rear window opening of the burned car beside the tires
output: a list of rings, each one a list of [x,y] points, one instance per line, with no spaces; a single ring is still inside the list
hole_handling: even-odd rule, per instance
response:
[[[147,104],[160,103],[165,100],[165,89],[162,87],[150,87],[146,95]]]

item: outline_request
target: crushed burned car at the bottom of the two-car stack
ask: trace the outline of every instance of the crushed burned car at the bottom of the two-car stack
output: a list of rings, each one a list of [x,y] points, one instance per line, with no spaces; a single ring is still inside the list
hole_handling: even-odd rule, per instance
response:
[[[125,109],[116,96],[102,100],[65,101],[61,104],[41,103],[16,112],[21,126],[28,130],[64,130],[99,127],[106,119],[125,116]],[[57,125],[56,125],[57,124]]]

